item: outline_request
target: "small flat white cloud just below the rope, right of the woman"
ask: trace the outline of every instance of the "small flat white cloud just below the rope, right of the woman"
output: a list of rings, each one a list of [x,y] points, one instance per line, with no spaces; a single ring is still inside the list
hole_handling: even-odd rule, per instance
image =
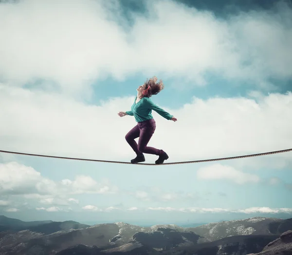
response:
[[[237,184],[245,184],[247,182],[257,183],[260,181],[260,178],[256,175],[243,173],[231,166],[221,164],[213,164],[201,167],[197,171],[197,177],[199,179],[227,179]]]

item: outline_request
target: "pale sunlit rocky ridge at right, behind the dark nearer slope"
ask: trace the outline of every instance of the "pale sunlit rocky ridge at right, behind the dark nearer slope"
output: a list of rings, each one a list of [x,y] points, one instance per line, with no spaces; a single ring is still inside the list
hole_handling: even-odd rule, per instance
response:
[[[235,235],[280,235],[292,229],[291,219],[253,217],[241,220],[209,223],[195,228],[188,228],[202,237],[199,243],[212,242]]]

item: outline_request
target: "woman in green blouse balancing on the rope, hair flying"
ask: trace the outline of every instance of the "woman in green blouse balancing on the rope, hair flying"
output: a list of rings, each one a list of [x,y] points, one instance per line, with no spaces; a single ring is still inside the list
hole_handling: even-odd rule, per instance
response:
[[[125,137],[128,144],[137,155],[137,157],[131,160],[132,164],[144,162],[145,157],[143,153],[159,156],[159,158],[155,161],[155,164],[162,164],[164,160],[168,159],[168,155],[163,150],[147,147],[147,144],[156,129],[156,123],[151,114],[152,110],[166,119],[177,121],[177,118],[174,118],[173,115],[170,115],[155,105],[150,99],[152,95],[157,95],[164,89],[162,80],[158,83],[156,83],[156,81],[157,78],[154,76],[153,78],[147,80],[143,85],[139,86],[137,88],[137,97],[131,107],[131,111],[118,113],[120,117],[124,117],[126,115],[134,116],[136,122],[138,122]],[[139,137],[138,144],[134,140],[137,137]]]

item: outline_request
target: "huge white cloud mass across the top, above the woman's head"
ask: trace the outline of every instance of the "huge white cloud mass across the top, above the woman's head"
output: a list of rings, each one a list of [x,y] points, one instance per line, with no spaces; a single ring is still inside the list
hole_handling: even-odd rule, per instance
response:
[[[130,15],[132,25],[118,1],[0,3],[0,77],[77,95],[90,93],[95,80],[137,73],[193,85],[208,83],[212,73],[268,88],[270,78],[292,78],[292,9],[285,3],[219,19],[174,1],[150,0],[146,15]]]

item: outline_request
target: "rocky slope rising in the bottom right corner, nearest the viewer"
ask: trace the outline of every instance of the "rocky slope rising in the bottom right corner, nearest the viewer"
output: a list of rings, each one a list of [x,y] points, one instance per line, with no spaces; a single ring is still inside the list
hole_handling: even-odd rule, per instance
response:
[[[292,231],[286,231],[279,238],[270,242],[260,253],[249,255],[291,255],[292,254]]]

